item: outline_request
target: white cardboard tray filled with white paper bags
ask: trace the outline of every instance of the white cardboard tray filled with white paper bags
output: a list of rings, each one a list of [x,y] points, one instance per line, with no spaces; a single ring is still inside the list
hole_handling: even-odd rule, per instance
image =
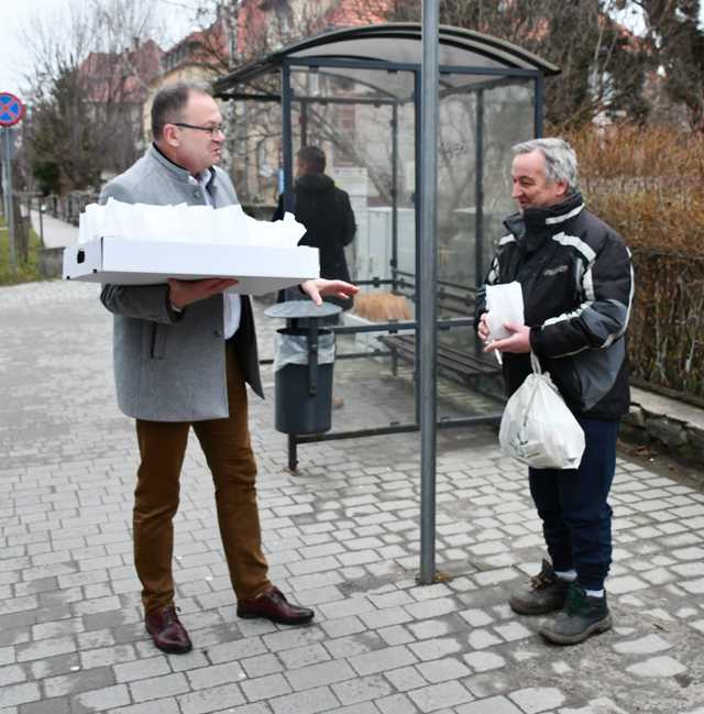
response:
[[[110,199],[80,216],[78,244],[64,249],[64,279],[156,285],[229,277],[228,292],[264,295],[320,275],[319,251],[286,213],[257,221],[241,206],[147,206]]]

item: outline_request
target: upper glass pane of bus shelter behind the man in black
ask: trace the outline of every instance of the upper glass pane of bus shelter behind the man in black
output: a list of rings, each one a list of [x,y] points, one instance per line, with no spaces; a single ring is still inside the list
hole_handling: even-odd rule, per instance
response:
[[[414,86],[409,73],[364,72],[364,83],[328,72],[292,73],[294,150],[321,147],[326,173],[350,196],[356,235],[346,262],[355,282],[415,274],[415,114],[376,85]],[[396,239],[395,239],[396,237]],[[373,288],[364,286],[365,293]]]

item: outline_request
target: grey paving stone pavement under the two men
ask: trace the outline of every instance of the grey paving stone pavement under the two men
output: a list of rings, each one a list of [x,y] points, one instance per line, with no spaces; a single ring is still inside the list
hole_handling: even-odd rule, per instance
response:
[[[266,353],[276,325],[258,322]],[[273,399],[251,402],[266,552],[316,619],[238,619],[194,442],[175,575],[195,649],[158,652],[132,568],[136,449],[110,329],[96,286],[0,288],[0,714],[704,714],[702,493],[619,459],[615,627],[552,647],[506,604],[542,549],[524,469],[491,429],[439,436],[451,580],[418,586],[418,435],[302,446],[292,475]],[[338,427],[411,413],[407,378],[339,364]]]

